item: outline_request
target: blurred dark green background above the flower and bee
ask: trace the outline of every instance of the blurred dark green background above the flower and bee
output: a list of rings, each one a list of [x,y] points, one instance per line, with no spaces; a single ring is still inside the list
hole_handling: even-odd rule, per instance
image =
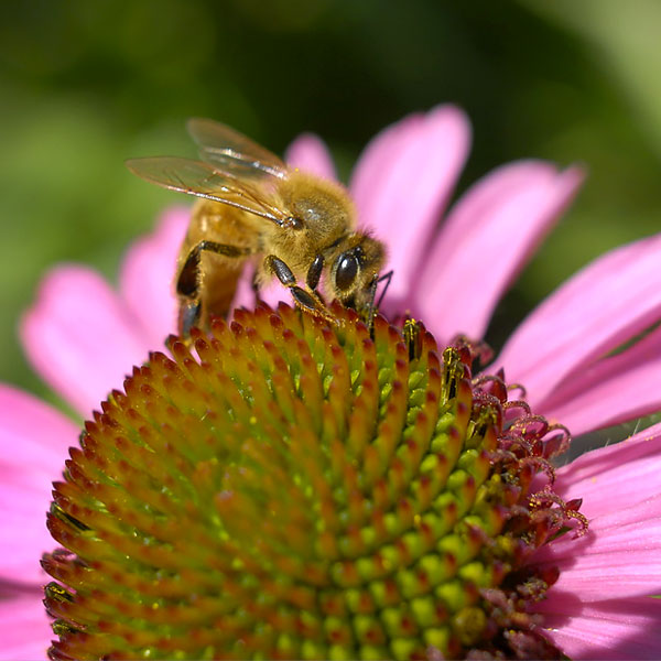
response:
[[[474,124],[459,191],[512,159],[585,163],[583,193],[497,314],[511,328],[589,259],[661,229],[660,33],[657,0],[4,3],[0,379],[45,394],[21,312],[58,261],[115,280],[131,239],[182,202],[122,162],[193,155],[189,116],[275,152],[313,130],[346,177],[383,126],[453,101]]]

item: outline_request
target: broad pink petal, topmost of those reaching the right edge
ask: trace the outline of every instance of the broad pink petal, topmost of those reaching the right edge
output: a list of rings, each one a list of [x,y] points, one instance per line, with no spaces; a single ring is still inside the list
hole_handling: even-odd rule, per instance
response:
[[[571,372],[661,318],[660,263],[661,235],[594,261],[528,316],[495,369],[523,383],[537,408]]]

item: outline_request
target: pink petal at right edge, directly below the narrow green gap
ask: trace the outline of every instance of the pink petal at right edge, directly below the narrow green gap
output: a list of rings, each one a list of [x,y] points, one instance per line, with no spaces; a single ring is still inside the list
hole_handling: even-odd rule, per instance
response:
[[[593,449],[557,470],[555,491],[594,519],[661,492],[661,425]]]

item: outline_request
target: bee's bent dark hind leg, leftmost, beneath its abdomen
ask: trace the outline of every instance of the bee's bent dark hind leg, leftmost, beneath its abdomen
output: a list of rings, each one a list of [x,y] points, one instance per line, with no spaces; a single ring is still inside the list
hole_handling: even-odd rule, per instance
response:
[[[176,293],[180,297],[178,332],[182,337],[188,337],[191,328],[197,325],[202,317],[201,259],[204,251],[230,258],[245,258],[251,253],[247,248],[206,240],[199,241],[191,249],[176,279]]]

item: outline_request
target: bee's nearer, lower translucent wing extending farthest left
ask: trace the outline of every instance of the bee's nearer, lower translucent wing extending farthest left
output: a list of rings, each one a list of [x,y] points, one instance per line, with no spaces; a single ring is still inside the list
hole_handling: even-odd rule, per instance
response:
[[[288,218],[288,214],[270,204],[268,195],[258,187],[208,163],[177,156],[155,156],[129,159],[126,164],[133,174],[164,188],[228,204],[278,225]]]

